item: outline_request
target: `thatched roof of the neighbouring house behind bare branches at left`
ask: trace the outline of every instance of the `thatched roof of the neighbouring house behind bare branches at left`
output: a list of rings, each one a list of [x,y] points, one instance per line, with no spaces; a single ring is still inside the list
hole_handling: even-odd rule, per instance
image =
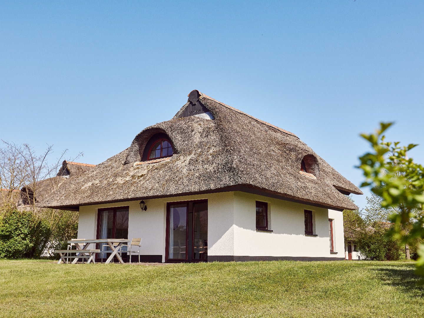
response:
[[[96,165],[72,162],[64,160],[57,175],[53,178],[37,181],[35,187],[32,184],[22,187],[20,190],[17,207],[20,210],[28,210],[35,196],[36,203],[41,202],[47,195],[58,189],[68,178],[80,176],[82,173],[91,170]]]

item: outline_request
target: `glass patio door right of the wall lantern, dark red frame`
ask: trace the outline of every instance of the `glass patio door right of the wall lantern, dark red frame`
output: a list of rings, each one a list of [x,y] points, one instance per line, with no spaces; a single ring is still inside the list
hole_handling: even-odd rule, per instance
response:
[[[207,261],[207,216],[204,200],[167,204],[167,261]]]

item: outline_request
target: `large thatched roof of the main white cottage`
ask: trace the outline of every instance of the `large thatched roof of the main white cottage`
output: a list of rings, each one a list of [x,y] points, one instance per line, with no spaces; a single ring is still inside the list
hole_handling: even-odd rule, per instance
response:
[[[192,97],[193,92],[197,97]],[[88,204],[241,190],[333,209],[357,209],[344,194],[362,194],[361,190],[295,134],[193,92],[173,119],[145,128],[129,148],[67,181],[42,206],[78,209]],[[196,112],[183,117],[196,105],[209,117]],[[143,158],[154,134],[170,138],[173,156]],[[307,173],[299,171],[302,159],[309,166]]]

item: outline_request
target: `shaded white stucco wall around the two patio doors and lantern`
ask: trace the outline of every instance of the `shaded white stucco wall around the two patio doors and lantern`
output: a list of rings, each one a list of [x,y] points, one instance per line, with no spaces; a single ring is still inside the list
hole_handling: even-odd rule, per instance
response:
[[[97,235],[98,209],[129,206],[128,239],[142,238],[142,255],[162,255],[165,261],[167,202],[208,200],[208,254],[234,254],[234,192],[190,195],[145,200],[147,211],[139,201],[80,206],[78,238],[92,239]]]

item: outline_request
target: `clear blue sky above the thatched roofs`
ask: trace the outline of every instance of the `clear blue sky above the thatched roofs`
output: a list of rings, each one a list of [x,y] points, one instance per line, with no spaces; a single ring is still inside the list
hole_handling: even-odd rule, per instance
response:
[[[98,164],[198,89],[359,185],[361,132],[423,143],[423,41],[423,1],[1,1],[0,138]]]

